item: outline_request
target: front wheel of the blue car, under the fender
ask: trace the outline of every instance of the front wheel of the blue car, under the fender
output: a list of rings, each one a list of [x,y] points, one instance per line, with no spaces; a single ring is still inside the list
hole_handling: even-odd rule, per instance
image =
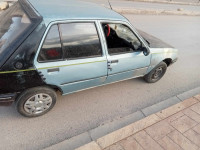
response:
[[[167,64],[165,62],[161,62],[151,72],[145,75],[144,79],[148,83],[155,83],[164,76],[166,70]]]

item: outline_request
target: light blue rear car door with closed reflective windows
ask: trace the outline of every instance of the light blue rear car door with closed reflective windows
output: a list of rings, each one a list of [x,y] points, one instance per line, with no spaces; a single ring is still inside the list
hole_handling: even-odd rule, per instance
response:
[[[35,58],[45,82],[63,94],[101,85],[107,77],[107,59],[96,22],[52,24]]]

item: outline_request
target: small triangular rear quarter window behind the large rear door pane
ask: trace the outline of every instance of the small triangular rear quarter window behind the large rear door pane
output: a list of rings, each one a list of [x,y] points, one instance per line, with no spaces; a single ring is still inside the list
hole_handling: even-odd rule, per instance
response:
[[[58,26],[53,25],[46,36],[42,49],[40,50],[38,60],[44,62],[61,60],[62,58],[63,52],[60,43]]]

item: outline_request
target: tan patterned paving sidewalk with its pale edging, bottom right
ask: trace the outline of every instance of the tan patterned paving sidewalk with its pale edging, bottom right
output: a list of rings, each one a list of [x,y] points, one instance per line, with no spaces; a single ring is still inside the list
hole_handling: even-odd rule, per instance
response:
[[[76,150],[200,150],[200,95]]]

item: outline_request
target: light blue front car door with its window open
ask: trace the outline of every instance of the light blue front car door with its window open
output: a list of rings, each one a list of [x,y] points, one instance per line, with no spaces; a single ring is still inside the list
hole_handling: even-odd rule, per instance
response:
[[[106,83],[143,76],[150,65],[151,55],[143,54],[145,44],[142,40],[128,24],[102,21],[101,26],[107,45]]]

